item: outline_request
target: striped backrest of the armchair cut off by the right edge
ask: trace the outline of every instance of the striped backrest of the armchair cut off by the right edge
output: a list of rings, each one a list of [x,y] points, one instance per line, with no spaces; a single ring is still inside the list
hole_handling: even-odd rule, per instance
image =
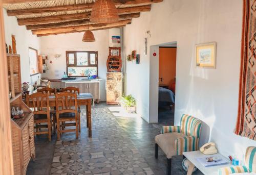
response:
[[[245,163],[250,172],[256,172],[256,147],[247,147],[245,153]]]

